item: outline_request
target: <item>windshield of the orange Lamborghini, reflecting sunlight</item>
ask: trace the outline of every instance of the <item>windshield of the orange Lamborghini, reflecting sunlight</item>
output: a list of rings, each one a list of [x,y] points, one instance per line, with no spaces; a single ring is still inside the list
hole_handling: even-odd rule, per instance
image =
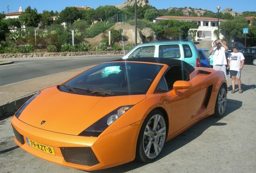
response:
[[[101,97],[146,94],[162,67],[140,62],[107,62],[59,85],[58,89]]]

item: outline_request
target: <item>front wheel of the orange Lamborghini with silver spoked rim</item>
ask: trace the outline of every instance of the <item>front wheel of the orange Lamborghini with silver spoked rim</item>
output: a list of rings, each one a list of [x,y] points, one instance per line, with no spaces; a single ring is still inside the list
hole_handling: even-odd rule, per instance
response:
[[[166,122],[161,111],[149,113],[138,135],[136,160],[152,162],[163,149],[166,139]]]

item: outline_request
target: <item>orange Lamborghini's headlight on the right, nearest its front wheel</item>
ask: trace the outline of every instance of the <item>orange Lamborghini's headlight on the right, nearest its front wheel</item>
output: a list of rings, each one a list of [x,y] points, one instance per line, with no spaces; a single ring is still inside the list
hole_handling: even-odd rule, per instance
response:
[[[93,125],[85,129],[79,136],[98,137],[109,125],[114,123],[121,115],[126,113],[133,105],[122,106],[108,113]]]

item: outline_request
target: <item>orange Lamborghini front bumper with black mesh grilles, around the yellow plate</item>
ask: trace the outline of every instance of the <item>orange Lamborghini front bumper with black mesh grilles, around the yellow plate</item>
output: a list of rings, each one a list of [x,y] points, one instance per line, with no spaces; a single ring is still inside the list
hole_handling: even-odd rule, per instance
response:
[[[27,125],[15,116],[11,124],[15,134],[14,141],[25,151],[53,163],[93,171],[133,161],[142,123],[99,137],[82,137],[45,131]],[[55,155],[29,146],[27,139],[53,147]]]

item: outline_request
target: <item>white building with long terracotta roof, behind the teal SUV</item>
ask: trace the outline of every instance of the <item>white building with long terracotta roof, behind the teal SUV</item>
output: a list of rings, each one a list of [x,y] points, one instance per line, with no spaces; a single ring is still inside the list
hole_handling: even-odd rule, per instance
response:
[[[218,19],[209,17],[189,17],[189,16],[159,16],[154,22],[159,23],[163,20],[180,20],[180,21],[195,21],[198,24],[196,33],[196,40],[215,40],[217,39],[213,32],[218,29]],[[225,19],[219,19],[221,22],[227,21]],[[194,30],[194,29],[192,29]],[[223,35],[219,34],[219,38],[222,39]]]

